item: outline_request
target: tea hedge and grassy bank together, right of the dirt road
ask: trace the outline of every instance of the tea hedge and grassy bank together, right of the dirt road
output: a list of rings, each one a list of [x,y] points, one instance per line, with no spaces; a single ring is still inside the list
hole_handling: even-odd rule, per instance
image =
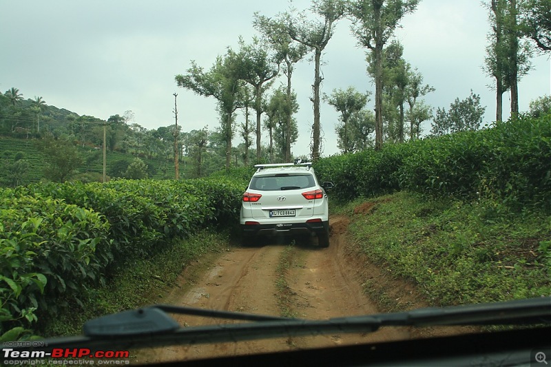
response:
[[[337,182],[332,195],[360,251],[430,304],[551,294],[550,116],[326,158],[316,169]]]

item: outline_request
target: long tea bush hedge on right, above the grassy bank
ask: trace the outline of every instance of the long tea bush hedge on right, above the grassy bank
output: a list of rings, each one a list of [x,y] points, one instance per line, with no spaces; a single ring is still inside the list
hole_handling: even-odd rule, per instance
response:
[[[406,189],[551,211],[551,116],[323,158],[315,169],[340,200]]]

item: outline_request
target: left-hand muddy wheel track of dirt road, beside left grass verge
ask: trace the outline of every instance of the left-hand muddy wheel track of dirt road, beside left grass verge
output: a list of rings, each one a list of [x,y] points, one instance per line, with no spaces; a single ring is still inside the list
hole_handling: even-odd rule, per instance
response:
[[[284,247],[270,245],[233,249],[224,253],[189,291],[174,289],[166,303],[222,311],[258,313],[279,316],[275,289],[275,269]],[[176,315],[183,326],[229,323],[231,320]],[[188,360],[221,355],[262,353],[289,350],[287,339],[277,338],[251,342],[169,346],[138,353],[138,363]]]

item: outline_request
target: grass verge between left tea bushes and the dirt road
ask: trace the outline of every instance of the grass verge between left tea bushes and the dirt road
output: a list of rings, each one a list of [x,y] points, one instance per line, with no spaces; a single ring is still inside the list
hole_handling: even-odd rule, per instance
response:
[[[80,335],[88,319],[110,313],[163,303],[163,294],[176,286],[176,279],[185,267],[205,253],[227,247],[227,234],[203,231],[187,240],[175,241],[173,246],[159,251],[153,258],[136,260],[121,269],[104,287],[92,289],[84,306],[60,315],[43,318],[36,333],[45,337]],[[78,310],[78,312],[76,312]]]

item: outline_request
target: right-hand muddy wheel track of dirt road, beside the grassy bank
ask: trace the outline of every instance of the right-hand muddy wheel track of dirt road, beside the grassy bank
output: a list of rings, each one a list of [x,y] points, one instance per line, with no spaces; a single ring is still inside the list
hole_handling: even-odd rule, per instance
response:
[[[331,219],[331,244],[328,249],[302,247],[295,252],[286,279],[291,293],[291,306],[296,317],[329,319],[333,317],[378,313],[374,302],[362,289],[359,270],[363,264],[346,251],[344,231],[346,218]],[[375,333],[343,333],[317,337],[293,338],[298,348],[408,339],[408,328],[382,329]]]

